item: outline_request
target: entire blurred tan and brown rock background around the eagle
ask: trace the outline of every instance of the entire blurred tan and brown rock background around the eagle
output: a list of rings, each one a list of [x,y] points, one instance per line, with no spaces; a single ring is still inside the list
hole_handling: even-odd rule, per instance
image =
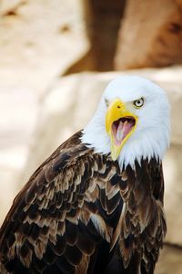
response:
[[[126,73],[155,80],[172,106],[167,237],[155,273],[181,274],[181,0],[0,0],[0,225],[35,168]]]

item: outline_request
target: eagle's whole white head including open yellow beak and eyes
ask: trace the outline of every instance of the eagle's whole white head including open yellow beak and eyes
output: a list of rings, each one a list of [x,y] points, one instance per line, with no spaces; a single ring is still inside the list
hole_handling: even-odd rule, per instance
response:
[[[169,145],[170,107],[166,92],[139,76],[108,83],[82,142],[96,153],[110,153],[120,167],[142,159],[161,160]]]

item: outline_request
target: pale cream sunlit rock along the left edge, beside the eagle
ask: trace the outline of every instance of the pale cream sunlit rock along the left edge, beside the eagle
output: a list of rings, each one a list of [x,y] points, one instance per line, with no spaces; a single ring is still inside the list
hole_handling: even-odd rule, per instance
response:
[[[87,49],[79,0],[0,0],[0,223],[19,189],[39,100]]]

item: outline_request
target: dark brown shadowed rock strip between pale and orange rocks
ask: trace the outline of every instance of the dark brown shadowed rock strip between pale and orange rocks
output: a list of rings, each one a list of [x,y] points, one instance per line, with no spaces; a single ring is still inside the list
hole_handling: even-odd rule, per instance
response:
[[[82,0],[81,3],[89,50],[66,69],[65,75],[113,70],[117,33],[126,0]]]

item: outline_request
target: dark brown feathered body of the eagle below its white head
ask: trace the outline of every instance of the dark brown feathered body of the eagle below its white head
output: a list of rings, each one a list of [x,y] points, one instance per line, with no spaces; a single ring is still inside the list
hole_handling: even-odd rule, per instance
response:
[[[0,273],[153,273],[166,234],[161,163],[120,171],[81,134],[15,197],[0,230]]]

